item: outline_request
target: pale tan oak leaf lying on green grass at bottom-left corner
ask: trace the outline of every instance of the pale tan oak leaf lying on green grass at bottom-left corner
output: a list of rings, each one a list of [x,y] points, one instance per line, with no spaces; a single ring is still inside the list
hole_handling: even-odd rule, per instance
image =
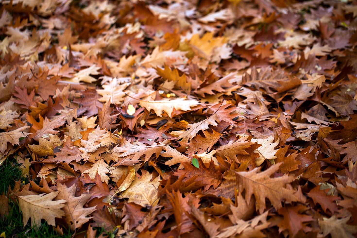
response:
[[[24,227],[29,218],[31,218],[32,226],[40,225],[41,219],[45,219],[49,225],[55,226],[55,218],[61,218],[65,214],[61,208],[65,206],[66,200],[52,201],[58,193],[18,196]]]

